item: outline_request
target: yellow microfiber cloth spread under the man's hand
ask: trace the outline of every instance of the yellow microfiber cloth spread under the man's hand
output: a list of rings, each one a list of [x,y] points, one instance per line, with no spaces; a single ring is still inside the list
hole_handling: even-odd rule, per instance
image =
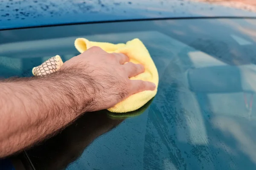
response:
[[[153,60],[151,59],[147,48],[145,47],[143,42],[141,42],[139,39],[128,41],[126,42],[126,44],[123,44],[123,43],[112,44],[108,42],[92,42],[85,38],[78,38],[75,40],[75,47],[80,53],[83,53],[84,51],[86,51],[88,48],[92,46],[98,46],[108,53],[125,54],[129,57],[130,62],[144,65],[145,72],[135,77],[131,77],[130,79],[149,81],[149,82],[153,82],[156,85],[156,89],[154,91],[142,91],[140,93],[133,94],[129,96],[127,99],[123,100],[122,102],[119,102],[112,108],[108,108],[108,111],[111,111],[114,113],[126,113],[130,111],[135,111],[141,108],[143,105],[145,105],[150,99],[152,99],[157,94],[157,86],[158,86],[157,68]],[[61,58],[59,56],[55,56],[55,59],[58,59],[55,62],[56,68],[58,69],[61,66],[61,65],[59,66],[58,64],[62,63],[62,61],[60,61]],[[38,73],[36,72],[37,70],[40,72],[41,68],[39,67],[42,67],[42,66],[33,68],[32,73],[35,76],[38,76]]]

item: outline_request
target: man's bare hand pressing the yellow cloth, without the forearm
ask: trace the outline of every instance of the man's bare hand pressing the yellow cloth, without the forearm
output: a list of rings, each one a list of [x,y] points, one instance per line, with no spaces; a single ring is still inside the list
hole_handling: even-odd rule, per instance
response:
[[[129,62],[124,54],[109,54],[99,47],[91,47],[71,58],[61,70],[76,73],[86,85],[87,93],[81,91],[79,102],[91,102],[87,111],[111,108],[132,94],[155,89],[152,82],[129,79],[143,73],[143,65]]]

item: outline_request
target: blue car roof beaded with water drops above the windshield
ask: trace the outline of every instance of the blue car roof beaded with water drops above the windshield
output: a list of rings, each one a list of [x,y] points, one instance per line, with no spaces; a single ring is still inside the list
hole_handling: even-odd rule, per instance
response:
[[[0,1],[0,29],[180,17],[256,17],[256,13],[189,0]]]

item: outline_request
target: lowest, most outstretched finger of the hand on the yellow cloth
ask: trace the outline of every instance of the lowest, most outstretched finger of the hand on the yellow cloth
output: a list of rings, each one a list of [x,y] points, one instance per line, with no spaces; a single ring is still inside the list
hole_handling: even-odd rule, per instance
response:
[[[143,80],[131,80],[131,94],[136,94],[141,91],[154,91],[156,85],[153,82]]]

